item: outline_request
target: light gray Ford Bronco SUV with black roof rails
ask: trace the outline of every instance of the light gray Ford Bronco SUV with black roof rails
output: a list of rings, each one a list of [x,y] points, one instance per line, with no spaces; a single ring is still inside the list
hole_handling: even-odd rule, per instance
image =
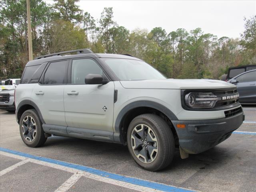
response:
[[[138,58],[89,49],[35,58],[15,91],[26,145],[52,134],[125,144],[151,171],[168,166],[175,147],[187,158],[226,140],[244,120],[238,98],[234,84],[167,79]]]

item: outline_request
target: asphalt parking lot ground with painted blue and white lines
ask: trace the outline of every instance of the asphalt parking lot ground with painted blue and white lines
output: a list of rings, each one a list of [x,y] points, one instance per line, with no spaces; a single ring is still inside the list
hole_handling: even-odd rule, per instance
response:
[[[230,138],[160,172],[136,165],[126,146],[52,136],[40,148],[20,138],[15,114],[0,110],[0,191],[256,191],[256,106]]]

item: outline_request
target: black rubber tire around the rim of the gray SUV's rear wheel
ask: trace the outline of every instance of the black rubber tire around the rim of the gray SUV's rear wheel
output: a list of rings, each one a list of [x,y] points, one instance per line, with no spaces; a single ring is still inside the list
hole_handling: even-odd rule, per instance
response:
[[[36,122],[36,138],[34,138],[32,142],[28,142],[22,134],[22,122],[26,116],[31,116]],[[23,142],[30,147],[36,147],[40,142],[40,138],[42,137],[42,134],[44,134],[44,131],[42,130],[42,122],[40,121],[38,114],[36,113],[35,110],[26,110],[20,117],[20,136]]]

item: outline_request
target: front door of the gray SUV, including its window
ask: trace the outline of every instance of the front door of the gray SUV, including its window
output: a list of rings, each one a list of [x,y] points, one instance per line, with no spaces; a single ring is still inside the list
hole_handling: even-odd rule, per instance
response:
[[[64,88],[67,132],[82,138],[113,137],[114,82],[85,84],[87,74],[100,74],[101,66],[91,58],[74,59],[69,69],[70,84]]]

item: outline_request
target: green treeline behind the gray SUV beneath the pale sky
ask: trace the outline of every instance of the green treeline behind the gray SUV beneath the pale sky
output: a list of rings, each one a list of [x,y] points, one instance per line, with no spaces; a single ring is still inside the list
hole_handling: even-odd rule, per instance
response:
[[[218,39],[201,28],[130,32],[116,24],[111,7],[95,20],[83,13],[79,0],[54,1],[53,6],[30,1],[34,56],[80,48],[131,54],[168,78],[218,79],[231,66],[256,64],[256,16],[244,19],[240,39]],[[18,78],[28,62],[26,0],[1,0],[0,5],[0,78]]]

